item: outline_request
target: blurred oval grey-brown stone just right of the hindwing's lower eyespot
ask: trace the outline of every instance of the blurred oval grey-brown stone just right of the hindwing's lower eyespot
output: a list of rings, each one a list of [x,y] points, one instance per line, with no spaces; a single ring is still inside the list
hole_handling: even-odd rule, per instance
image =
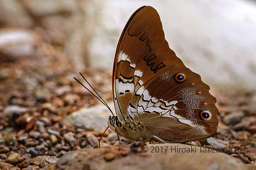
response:
[[[241,119],[245,116],[245,113],[243,111],[234,111],[229,114],[226,114],[223,117],[223,122],[226,125],[236,125],[241,121]]]

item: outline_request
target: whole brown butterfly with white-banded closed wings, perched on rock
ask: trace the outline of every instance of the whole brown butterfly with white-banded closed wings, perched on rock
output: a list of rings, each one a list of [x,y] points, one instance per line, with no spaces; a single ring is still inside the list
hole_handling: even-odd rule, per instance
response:
[[[136,10],[121,34],[113,98],[117,116],[109,117],[108,126],[131,141],[184,142],[217,130],[216,98],[169,48],[150,6]]]

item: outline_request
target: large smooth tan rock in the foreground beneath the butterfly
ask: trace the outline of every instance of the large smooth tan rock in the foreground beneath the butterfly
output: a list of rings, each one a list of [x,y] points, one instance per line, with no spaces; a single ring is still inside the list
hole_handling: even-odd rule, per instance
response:
[[[134,145],[74,151],[62,156],[51,169],[250,169],[250,165],[228,154],[203,153],[199,147],[195,153],[174,152],[175,147],[195,148],[190,145],[163,143],[146,147],[147,152]],[[153,147],[159,147],[159,152],[152,153]]]

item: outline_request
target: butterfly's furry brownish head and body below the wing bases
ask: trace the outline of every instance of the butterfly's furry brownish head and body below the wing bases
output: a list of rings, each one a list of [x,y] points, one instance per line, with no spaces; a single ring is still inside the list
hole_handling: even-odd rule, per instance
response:
[[[120,122],[117,116],[110,116],[108,125],[111,130],[116,132],[118,135],[125,137],[128,140],[143,141],[145,140],[143,126],[141,124],[135,124],[126,119],[125,122]]]

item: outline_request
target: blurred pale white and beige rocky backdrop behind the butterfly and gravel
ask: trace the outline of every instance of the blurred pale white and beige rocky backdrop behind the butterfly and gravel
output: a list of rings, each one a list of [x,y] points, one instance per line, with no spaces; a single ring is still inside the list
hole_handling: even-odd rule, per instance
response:
[[[158,11],[170,48],[210,87],[256,89],[256,1],[249,0],[1,0],[0,60],[58,53],[72,70],[111,70],[125,23],[143,5]]]

